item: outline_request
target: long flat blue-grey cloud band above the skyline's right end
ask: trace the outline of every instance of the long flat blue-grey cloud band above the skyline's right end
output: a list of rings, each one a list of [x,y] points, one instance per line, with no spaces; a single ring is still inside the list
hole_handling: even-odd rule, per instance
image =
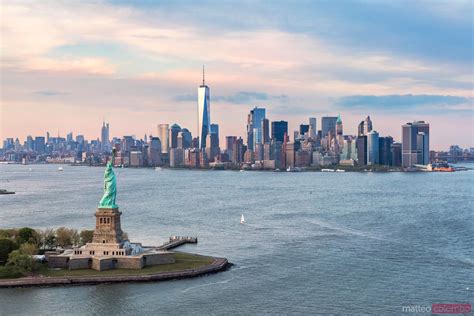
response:
[[[344,109],[382,111],[473,110],[473,98],[451,95],[351,95],[338,98],[334,103]]]

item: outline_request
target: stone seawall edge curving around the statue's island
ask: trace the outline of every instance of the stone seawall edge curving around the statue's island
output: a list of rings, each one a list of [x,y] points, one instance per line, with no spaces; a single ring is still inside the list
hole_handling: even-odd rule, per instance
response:
[[[68,286],[68,285],[97,285],[104,283],[124,282],[159,282],[176,279],[194,278],[206,274],[217,273],[227,270],[232,264],[226,258],[214,258],[214,261],[196,269],[186,269],[173,272],[158,272],[150,274],[129,274],[114,276],[70,276],[70,277],[24,277],[19,279],[0,280],[0,288],[16,287],[44,287],[44,286]]]

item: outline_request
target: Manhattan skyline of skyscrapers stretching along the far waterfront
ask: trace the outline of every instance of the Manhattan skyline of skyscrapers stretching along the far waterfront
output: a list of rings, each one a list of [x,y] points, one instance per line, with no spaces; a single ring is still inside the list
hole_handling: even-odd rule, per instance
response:
[[[288,169],[295,167],[323,168],[331,165],[383,165],[411,168],[427,165],[430,159],[474,157],[474,149],[459,150],[452,146],[449,153],[430,153],[429,124],[424,121],[402,126],[402,141],[379,135],[367,116],[358,124],[357,135],[344,134],[342,116],[309,117],[290,133],[288,122],[271,121],[267,110],[254,106],[247,115],[245,138],[225,136],[220,147],[219,125],[211,123],[210,89],[203,81],[198,87],[197,135],[178,124],[159,124],[157,135],[110,138],[110,125],[102,123],[101,137],[86,140],[83,135],[69,133],[66,138],[28,136],[7,138],[0,149],[0,160],[11,162],[68,162],[104,164],[112,149],[117,151],[116,164],[130,167],[169,166],[186,168],[253,168]],[[290,136],[291,135],[291,136]],[[432,157],[430,158],[430,154]]]

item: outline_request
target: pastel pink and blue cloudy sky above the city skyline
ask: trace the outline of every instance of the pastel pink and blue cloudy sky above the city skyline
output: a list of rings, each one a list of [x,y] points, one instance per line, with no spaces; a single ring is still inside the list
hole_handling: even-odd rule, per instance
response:
[[[0,139],[196,134],[205,65],[220,138],[248,112],[289,121],[370,115],[382,136],[430,123],[474,147],[473,1],[0,0]]]

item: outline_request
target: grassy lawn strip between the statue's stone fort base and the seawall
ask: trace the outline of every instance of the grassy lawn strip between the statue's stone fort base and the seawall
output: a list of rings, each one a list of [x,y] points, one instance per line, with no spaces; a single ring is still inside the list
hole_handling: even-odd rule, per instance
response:
[[[185,269],[199,268],[212,263],[212,257],[200,256],[185,252],[176,252],[175,263],[172,264],[160,264],[155,266],[144,267],[141,270],[129,270],[129,269],[114,269],[107,271],[95,271],[92,269],[81,269],[81,270],[50,270],[47,264],[41,265],[41,267],[35,271],[38,274],[48,277],[62,277],[62,276],[107,276],[107,275],[139,275],[139,274],[153,274],[158,272],[170,272],[179,271]]]

